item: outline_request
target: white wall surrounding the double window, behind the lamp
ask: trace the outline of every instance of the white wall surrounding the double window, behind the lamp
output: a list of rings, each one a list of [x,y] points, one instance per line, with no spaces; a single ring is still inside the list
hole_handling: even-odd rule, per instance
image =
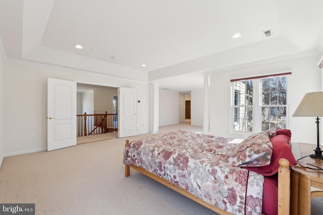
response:
[[[291,117],[305,93],[321,91],[319,56],[307,56],[280,62],[249,65],[210,74],[210,133],[245,138],[248,135],[230,132],[230,80],[292,71],[288,76],[289,129],[292,141],[316,143],[316,124],[311,117]],[[320,123],[322,124],[322,123]]]

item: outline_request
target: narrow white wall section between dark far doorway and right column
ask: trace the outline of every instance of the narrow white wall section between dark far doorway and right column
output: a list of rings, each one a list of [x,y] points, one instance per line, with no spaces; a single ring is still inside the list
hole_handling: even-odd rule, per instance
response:
[[[191,125],[203,126],[203,90],[191,91]]]

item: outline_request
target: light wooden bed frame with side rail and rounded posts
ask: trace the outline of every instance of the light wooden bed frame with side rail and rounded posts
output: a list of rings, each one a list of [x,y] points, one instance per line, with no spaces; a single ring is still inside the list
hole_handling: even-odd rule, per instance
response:
[[[126,140],[126,146],[129,143],[129,140]],[[286,215],[290,213],[290,166],[289,161],[286,159],[280,159],[279,161],[279,170],[278,170],[278,215]],[[147,170],[137,167],[135,165],[125,165],[125,176],[130,176],[130,167],[134,170],[137,170],[138,172],[148,176],[149,178],[164,184],[165,186],[181,193],[182,195],[196,201],[197,203],[200,203],[201,205],[217,212],[220,214],[232,214],[228,211],[225,211],[223,209],[220,209],[214,205],[211,205],[202,199],[196,197],[192,193],[188,192],[187,190],[169,182],[168,180],[161,178],[151,172],[148,172]]]

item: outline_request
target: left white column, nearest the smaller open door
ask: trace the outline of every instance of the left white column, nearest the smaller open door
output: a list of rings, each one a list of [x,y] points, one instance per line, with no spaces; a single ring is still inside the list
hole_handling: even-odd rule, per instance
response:
[[[151,133],[157,133],[159,130],[159,85],[154,82],[151,83],[151,100]]]

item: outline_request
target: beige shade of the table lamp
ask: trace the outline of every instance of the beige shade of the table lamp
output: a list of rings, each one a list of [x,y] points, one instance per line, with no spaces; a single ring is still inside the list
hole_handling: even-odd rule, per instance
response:
[[[306,93],[293,116],[323,116],[323,92]]]

